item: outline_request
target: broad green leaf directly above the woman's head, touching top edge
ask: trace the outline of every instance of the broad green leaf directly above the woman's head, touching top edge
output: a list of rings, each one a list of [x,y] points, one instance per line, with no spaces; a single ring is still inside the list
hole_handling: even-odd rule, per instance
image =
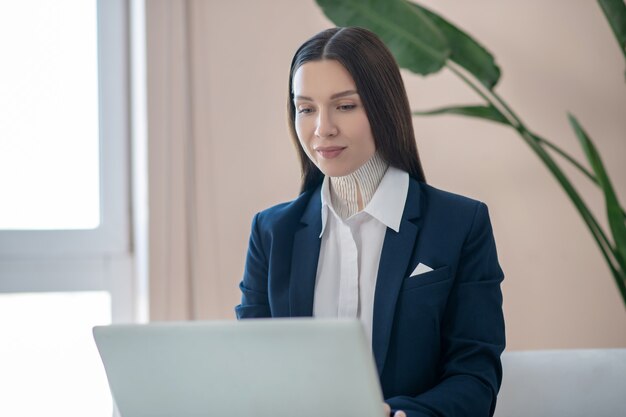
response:
[[[398,65],[428,75],[450,56],[446,38],[422,12],[403,0],[316,0],[337,26],[360,26],[376,33]]]

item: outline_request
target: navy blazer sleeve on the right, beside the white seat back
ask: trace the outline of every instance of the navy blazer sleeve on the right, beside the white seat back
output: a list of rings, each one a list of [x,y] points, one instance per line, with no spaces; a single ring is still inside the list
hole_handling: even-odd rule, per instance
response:
[[[487,206],[477,204],[462,245],[441,327],[439,381],[417,397],[386,401],[409,417],[491,416],[502,381],[502,292]]]

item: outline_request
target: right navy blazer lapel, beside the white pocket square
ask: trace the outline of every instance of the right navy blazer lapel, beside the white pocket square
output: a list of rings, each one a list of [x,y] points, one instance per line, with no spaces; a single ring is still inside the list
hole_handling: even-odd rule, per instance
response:
[[[419,207],[419,184],[411,180],[400,231],[396,233],[392,229],[387,229],[378,265],[374,295],[372,350],[379,375],[382,375],[385,366],[396,301],[417,239],[418,227],[411,220],[419,217]]]

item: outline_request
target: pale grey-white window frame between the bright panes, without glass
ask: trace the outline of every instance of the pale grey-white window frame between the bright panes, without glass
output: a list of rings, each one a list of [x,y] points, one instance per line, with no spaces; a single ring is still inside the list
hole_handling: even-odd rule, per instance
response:
[[[0,230],[0,293],[108,291],[112,321],[136,320],[130,205],[128,0],[98,0],[101,223]]]

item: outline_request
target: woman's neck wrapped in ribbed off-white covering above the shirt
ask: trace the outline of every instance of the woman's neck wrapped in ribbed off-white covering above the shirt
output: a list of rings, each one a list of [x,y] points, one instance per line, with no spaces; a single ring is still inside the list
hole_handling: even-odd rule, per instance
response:
[[[388,166],[376,152],[353,173],[330,178],[331,202],[339,217],[345,220],[367,206]]]

